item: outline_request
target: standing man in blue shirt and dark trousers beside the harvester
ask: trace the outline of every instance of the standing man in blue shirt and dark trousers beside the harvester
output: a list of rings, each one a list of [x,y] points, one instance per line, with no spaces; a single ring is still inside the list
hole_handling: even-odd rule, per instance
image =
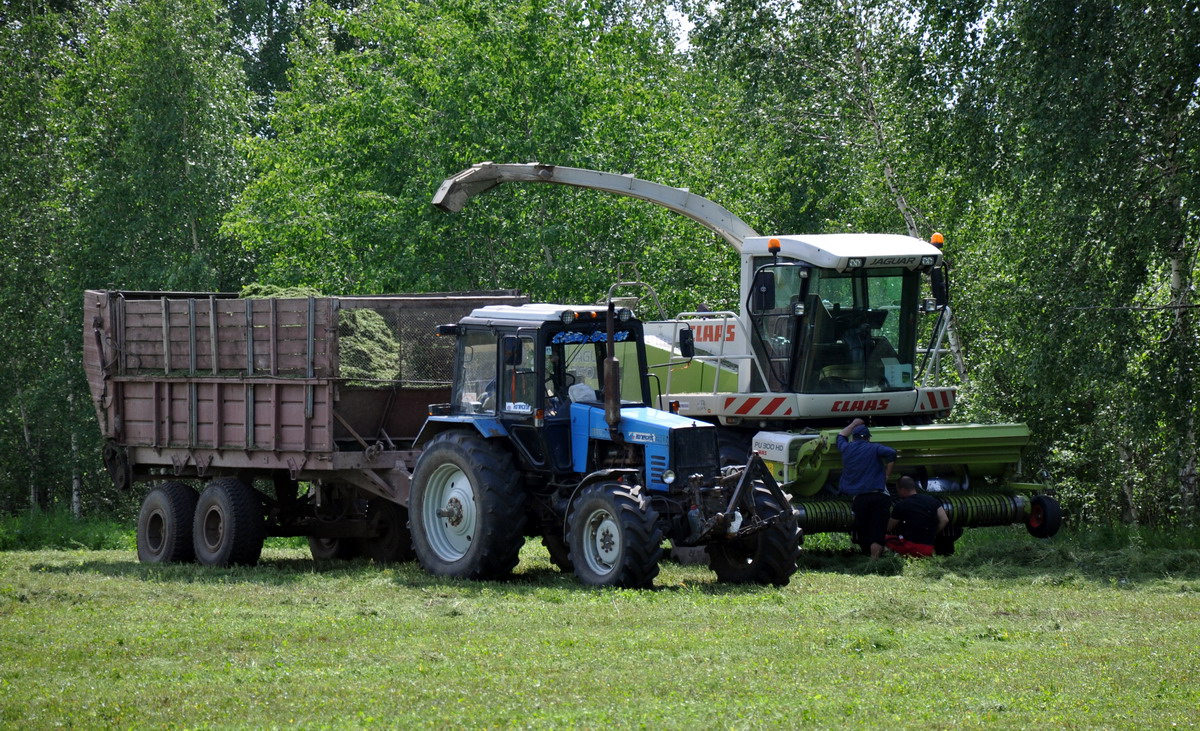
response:
[[[841,492],[854,497],[858,545],[871,558],[878,558],[883,555],[888,519],[892,517],[888,478],[896,461],[896,450],[871,442],[866,423],[854,419],[838,432],[838,451],[841,453],[842,465]]]

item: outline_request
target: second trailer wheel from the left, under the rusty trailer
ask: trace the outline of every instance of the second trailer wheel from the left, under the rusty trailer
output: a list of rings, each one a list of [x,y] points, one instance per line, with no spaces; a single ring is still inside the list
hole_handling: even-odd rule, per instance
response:
[[[254,565],[266,525],[258,492],[236,478],[209,483],[196,505],[196,559],[210,567]]]

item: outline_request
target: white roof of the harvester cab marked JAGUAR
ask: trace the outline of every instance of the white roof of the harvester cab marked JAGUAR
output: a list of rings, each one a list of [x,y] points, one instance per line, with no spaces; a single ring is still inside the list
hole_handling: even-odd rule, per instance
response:
[[[942,252],[932,244],[898,234],[798,234],[790,236],[750,236],[742,253],[770,256],[768,244],[778,239],[779,256],[814,266],[842,271],[851,259],[863,259],[860,266],[904,266],[918,269],[941,263]],[[934,257],[930,263],[923,257]]]

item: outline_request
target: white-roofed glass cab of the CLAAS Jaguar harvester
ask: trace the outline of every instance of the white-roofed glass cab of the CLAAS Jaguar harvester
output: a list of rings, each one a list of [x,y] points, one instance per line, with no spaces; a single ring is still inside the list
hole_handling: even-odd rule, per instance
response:
[[[767,366],[751,388],[911,391],[922,275],[940,262],[936,247],[908,236],[746,239],[744,312]]]

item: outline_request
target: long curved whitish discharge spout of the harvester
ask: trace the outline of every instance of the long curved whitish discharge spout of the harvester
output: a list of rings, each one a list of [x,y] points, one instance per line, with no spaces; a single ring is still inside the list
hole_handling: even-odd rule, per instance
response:
[[[446,178],[433,196],[433,205],[456,214],[467,205],[467,200],[502,182],[554,182],[648,200],[704,226],[725,239],[738,253],[742,253],[742,242],[748,236],[758,235],[745,221],[733,215],[724,205],[696,196],[686,188],[650,182],[632,175],[617,175],[600,170],[541,164],[540,162],[527,164],[480,162],[474,164]]]

